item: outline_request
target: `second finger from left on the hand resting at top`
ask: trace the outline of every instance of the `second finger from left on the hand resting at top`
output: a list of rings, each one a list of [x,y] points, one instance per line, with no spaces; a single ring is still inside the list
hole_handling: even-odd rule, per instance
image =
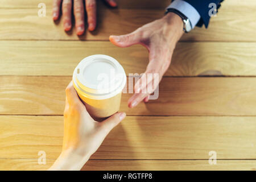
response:
[[[62,3],[62,12],[64,18],[64,30],[71,30],[71,9],[72,9],[72,0],[63,0]]]

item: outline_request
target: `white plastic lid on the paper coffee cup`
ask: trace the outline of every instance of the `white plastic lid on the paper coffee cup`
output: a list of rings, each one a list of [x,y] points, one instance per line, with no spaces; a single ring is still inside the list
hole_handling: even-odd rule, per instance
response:
[[[103,100],[121,93],[126,84],[123,67],[113,57],[85,57],[73,72],[73,84],[84,97]]]

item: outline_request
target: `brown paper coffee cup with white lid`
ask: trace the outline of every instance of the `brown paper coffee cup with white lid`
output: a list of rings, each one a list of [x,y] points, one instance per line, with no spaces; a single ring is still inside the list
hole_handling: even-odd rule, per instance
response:
[[[96,121],[117,113],[125,85],[123,67],[110,56],[85,57],[73,72],[73,86]]]

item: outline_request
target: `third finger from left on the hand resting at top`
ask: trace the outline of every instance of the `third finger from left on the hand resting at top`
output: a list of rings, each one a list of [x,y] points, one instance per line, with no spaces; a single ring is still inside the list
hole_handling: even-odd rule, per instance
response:
[[[84,34],[84,2],[83,0],[74,0],[74,14],[76,20],[76,34]]]

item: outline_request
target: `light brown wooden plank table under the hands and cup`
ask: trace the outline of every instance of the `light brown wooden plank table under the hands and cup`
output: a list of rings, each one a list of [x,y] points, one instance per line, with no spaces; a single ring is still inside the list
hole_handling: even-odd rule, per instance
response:
[[[164,1],[99,2],[98,27],[78,38],[53,23],[52,0],[0,3],[0,169],[47,169],[61,151],[65,87],[73,69],[96,53],[115,57],[126,73],[142,73],[142,46],[118,48],[121,35],[163,16]],[[159,99],[121,110],[127,118],[84,169],[256,169],[256,1],[225,1],[208,30],[177,44]],[[46,165],[38,164],[45,151]],[[217,154],[210,165],[209,152]]]

